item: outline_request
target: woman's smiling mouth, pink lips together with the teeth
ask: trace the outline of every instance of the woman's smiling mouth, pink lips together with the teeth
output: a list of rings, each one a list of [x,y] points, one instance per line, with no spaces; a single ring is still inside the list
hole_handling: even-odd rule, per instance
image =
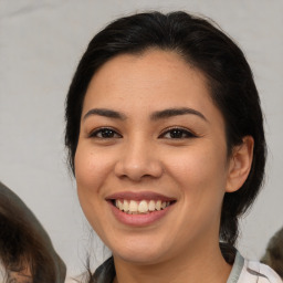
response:
[[[118,192],[106,198],[116,219],[128,226],[148,226],[165,217],[176,199],[155,192]]]

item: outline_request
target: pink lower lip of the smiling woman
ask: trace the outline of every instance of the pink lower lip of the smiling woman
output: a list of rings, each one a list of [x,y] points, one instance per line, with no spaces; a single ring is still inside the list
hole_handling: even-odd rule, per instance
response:
[[[109,202],[109,206],[119,222],[126,226],[145,227],[163,219],[169,212],[172,205],[163,210],[153,211],[146,214],[128,214],[113,206],[112,202]]]

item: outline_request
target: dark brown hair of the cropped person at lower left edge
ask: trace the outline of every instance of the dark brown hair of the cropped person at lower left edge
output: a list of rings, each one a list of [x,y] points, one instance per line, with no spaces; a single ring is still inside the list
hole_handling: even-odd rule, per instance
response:
[[[48,233],[23,201],[2,182],[0,265],[4,269],[2,275],[7,282],[14,282],[13,274],[17,277],[24,274],[32,283],[61,283],[65,280],[65,264],[54,251]]]

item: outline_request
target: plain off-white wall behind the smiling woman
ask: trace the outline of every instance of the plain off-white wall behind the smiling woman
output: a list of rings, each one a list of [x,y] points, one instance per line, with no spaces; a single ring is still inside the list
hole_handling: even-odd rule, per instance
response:
[[[115,18],[148,9],[210,17],[243,49],[270,153],[266,184],[242,221],[239,249],[259,259],[282,227],[282,0],[0,0],[0,180],[34,211],[71,274],[83,270],[91,241],[65,164],[65,95],[91,38]],[[94,242],[99,261],[104,250]]]

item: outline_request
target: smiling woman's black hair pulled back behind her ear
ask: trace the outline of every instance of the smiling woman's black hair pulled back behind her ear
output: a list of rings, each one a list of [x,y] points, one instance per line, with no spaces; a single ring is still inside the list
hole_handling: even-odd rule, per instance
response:
[[[70,166],[74,172],[82,106],[93,75],[119,54],[138,55],[150,49],[174,51],[206,76],[212,101],[224,118],[228,156],[234,146],[241,145],[243,137],[254,139],[248,179],[223,199],[219,235],[228,259],[239,234],[238,218],[250,208],[261,188],[266,145],[260,98],[244,54],[208,20],[186,12],[139,13],[112,22],[92,39],[66,97],[65,145]]]

